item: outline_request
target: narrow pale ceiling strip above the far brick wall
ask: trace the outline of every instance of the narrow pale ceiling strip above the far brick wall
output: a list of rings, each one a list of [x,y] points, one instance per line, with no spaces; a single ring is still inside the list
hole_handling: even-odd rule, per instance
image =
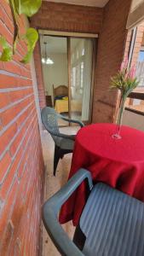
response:
[[[46,0],[55,3],[70,3],[85,6],[104,7],[109,0]]]

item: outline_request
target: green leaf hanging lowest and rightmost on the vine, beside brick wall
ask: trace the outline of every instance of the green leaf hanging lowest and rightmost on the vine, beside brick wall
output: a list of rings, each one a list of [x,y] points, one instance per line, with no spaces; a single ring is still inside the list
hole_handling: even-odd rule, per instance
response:
[[[26,35],[23,36],[23,39],[26,40],[27,54],[21,62],[26,64],[31,60],[33,49],[35,48],[35,45],[37,43],[37,39],[38,39],[37,30],[35,30],[32,27],[28,28],[26,31]]]

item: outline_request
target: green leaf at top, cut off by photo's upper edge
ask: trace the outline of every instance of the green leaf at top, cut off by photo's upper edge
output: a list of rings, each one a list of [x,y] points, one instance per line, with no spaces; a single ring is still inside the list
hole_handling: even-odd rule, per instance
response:
[[[14,0],[19,15],[31,17],[35,15],[42,5],[42,0]]]

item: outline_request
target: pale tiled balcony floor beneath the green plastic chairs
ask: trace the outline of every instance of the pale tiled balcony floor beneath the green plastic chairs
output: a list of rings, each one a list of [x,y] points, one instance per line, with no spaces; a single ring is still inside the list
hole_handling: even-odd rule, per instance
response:
[[[75,134],[78,131],[78,126],[76,127],[63,127],[60,129],[61,132],[67,134]],[[62,160],[59,161],[57,167],[56,177],[53,176],[53,158],[54,158],[54,142],[49,136],[47,131],[43,131],[43,157],[45,164],[45,201],[55,192],[60,189],[60,187],[66,183],[68,173],[70,171],[72,154],[66,154]],[[69,222],[63,225],[68,236],[72,238],[74,227],[72,223]],[[43,227],[43,256],[59,256],[60,253],[56,250],[52,241],[50,241]]]

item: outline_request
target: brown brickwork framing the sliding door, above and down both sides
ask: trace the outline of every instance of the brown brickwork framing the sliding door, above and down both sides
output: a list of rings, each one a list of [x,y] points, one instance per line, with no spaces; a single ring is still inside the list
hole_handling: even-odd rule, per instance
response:
[[[110,78],[118,72],[124,57],[127,37],[125,28],[130,3],[131,0],[110,0],[104,9],[99,9],[43,2],[42,9],[32,18],[32,26],[42,29],[99,33],[93,122],[112,122],[114,119],[117,93],[109,92]],[[37,62],[38,58],[35,61]],[[39,61],[41,62],[40,55]],[[39,69],[38,77],[42,76],[41,69]],[[41,85],[38,90],[40,102],[44,102]]]

